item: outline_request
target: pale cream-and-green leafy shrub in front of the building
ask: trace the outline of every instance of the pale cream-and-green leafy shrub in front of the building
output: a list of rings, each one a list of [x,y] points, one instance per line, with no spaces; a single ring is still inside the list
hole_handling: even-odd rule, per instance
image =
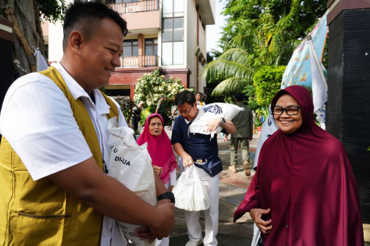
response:
[[[173,104],[176,94],[185,90],[179,78],[175,80],[174,77],[170,77],[168,81],[166,81],[164,75],[161,75],[158,69],[155,69],[151,73],[144,74],[137,81],[138,83],[135,85],[134,101],[136,103],[143,101],[144,107],[152,113],[155,112],[157,102],[160,99],[159,97],[163,94],[165,96],[164,104],[166,113],[170,115],[171,104]],[[194,89],[188,90],[194,92]]]

